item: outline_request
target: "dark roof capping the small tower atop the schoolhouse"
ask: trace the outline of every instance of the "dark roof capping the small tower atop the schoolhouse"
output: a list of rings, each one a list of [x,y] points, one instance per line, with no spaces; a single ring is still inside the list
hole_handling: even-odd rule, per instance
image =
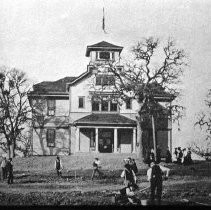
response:
[[[111,44],[109,42],[102,41],[97,44],[88,45],[86,48],[86,56],[88,57],[90,55],[90,51],[97,51],[97,50],[103,50],[103,49],[115,50],[115,51],[121,52],[123,47]]]

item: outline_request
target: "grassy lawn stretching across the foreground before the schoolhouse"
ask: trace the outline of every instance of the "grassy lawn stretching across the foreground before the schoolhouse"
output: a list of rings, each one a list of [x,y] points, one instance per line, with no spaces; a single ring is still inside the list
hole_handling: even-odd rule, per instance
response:
[[[94,181],[90,179],[93,157],[62,157],[61,178],[53,169],[55,157],[15,158],[14,184],[0,182],[0,205],[114,205],[113,193],[123,188],[122,158],[100,157],[104,177],[96,177]],[[164,205],[196,205],[194,202],[211,205],[211,162],[198,161],[191,166],[168,164],[168,167],[171,172],[163,182]],[[139,166],[140,189],[149,186],[147,168]],[[148,199],[149,190],[137,192],[137,197]]]

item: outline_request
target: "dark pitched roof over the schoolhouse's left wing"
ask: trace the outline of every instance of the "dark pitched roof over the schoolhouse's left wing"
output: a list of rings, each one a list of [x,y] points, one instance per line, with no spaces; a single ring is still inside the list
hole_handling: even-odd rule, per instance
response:
[[[33,86],[32,93],[65,93],[66,84],[72,82],[77,77],[64,77],[56,81],[44,81]]]

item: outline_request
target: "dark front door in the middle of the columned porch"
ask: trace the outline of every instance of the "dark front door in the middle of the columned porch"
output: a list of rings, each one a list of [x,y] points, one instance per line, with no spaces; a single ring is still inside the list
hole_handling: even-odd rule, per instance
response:
[[[113,152],[114,131],[113,129],[99,129],[99,152]]]

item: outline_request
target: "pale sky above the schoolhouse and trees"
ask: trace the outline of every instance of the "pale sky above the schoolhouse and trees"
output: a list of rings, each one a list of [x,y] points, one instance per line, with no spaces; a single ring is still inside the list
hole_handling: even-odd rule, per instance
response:
[[[33,83],[86,71],[87,45],[111,42],[126,57],[149,36],[173,37],[189,59],[179,99],[186,115],[180,131],[173,127],[173,145],[203,139],[193,125],[211,88],[210,0],[0,0],[0,65],[25,71]]]

